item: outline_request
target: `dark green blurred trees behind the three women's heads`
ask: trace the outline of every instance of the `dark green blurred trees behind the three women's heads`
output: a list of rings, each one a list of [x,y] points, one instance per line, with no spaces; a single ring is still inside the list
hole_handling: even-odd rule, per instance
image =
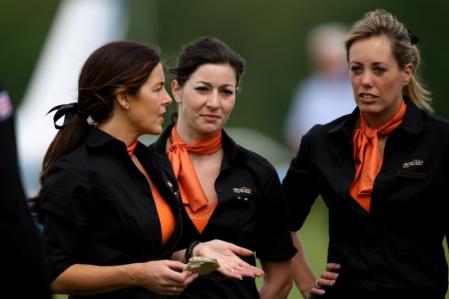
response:
[[[75,0],[76,1],[76,0]],[[0,1],[0,81],[19,104],[59,0]],[[250,127],[282,142],[295,85],[309,73],[304,42],[322,22],[350,26],[385,8],[418,36],[422,77],[438,114],[449,117],[449,2],[444,0],[128,0],[128,39],[158,44],[172,65],[179,48],[202,35],[219,37],[247,61],[242,92],[229,126]],[[49,88],[52,82],[48,82]],[[65,99],[61,99],[65,100]]]

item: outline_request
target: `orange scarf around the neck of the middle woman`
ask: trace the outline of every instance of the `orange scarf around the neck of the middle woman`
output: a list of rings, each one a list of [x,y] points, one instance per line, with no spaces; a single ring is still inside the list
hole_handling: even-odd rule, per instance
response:
[[[206,140],[199,140],[193,144],[185,143],[173,126],[170,135],[171,146],[168,158],[175,173],[181,192],[182,202],[195,227],[201,233],[207,225],[216,204],[209,204],[200,181],[193,167],[189,152],[199,155],[211,155],[222,146],[221,130]]]

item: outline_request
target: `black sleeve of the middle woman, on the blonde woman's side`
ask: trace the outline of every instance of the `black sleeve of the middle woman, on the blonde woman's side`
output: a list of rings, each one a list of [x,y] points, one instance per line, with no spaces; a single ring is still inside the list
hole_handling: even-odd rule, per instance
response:
[[[267,179],[261,186],[256,203],[257,247],[260,260],[280,261],[295,255],[287,225],[287,211],[279,177],[274,168],[269,168]]]

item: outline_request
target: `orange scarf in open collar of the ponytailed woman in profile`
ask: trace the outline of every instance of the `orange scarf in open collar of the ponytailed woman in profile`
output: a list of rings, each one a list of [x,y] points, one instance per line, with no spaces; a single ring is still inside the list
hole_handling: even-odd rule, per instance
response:
[[[145,178],[148,181],[148,184],[150,184],[151,194],[153,195],[154,203],[156,205],[157,214],[159,216],[159,222],[161,225],[161,235],[162,235],[162,244],[165,244],[170,236],[175,231],[176,226],[176,220],[175,216],[173,215],[173,212],[168,205],[168,203],[164,200],[162,195],[159,193],[159,190],[156,188],[156,186],[153,184],[153,182],[150,179],[150,176],[145,171],[145,168],[143,168],[142,164],[140,164],[140,161],[133,156],[134,150],[137,146],[137,140],[136,142],[132,143],[130,146],[128,146],[128,155],[133,160],[136,167],[140,170],[140,172],[145,176]],[[133,159],[134,157],[134,159]]]

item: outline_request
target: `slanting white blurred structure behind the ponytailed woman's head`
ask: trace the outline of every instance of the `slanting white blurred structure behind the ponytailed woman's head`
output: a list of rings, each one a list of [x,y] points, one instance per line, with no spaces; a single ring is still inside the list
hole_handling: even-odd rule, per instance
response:
[[[23,182],[29,196],[39,188],[42,160],[56,134],[53,106],[76,101],[78,75],[88,55],[122,39],[127,12],[122,0],[63,0],[30,85],[18,109],[17,134]]]

